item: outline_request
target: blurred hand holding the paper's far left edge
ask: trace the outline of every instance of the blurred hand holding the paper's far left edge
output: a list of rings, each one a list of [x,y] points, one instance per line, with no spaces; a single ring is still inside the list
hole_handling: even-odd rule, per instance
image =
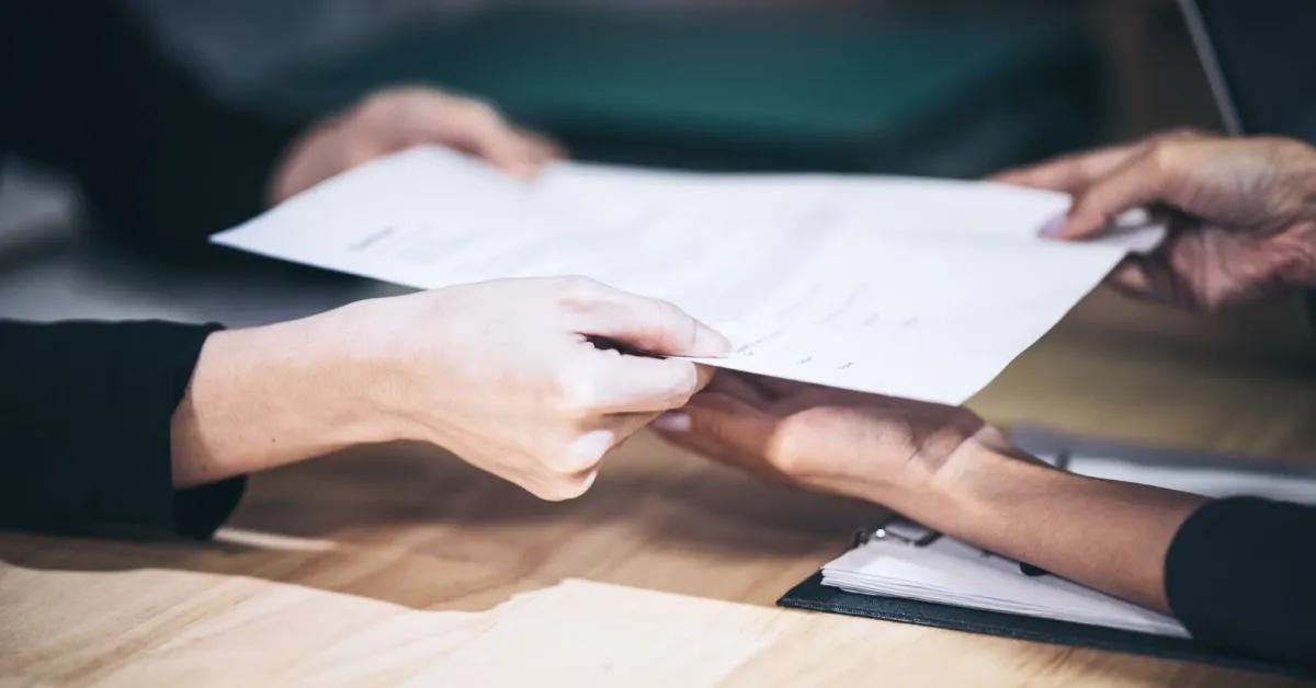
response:
[[[280,203],[330,176],[421,143],[438,143],[483,158],[529,179],[562,157],[549,139],[519,129],[478,100],[432,88],[379,91],[292,142],[270,180],[270,203]]]

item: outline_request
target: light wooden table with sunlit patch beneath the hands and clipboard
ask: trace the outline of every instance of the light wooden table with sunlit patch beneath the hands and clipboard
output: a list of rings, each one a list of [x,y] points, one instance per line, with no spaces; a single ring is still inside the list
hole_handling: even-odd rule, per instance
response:
[[[1098,293],[975,406],[1316,460],[1295,314],[1208,321]],[[1292,683],[772,606],[871,516],[647,435],[566,504],[375,447],[257,476],[212,543],[0,533],[0,684]]]

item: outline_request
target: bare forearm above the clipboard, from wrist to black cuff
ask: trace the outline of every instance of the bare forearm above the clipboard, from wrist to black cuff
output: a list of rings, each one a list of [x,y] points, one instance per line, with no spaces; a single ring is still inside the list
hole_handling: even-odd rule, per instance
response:
[[[984,433],[919,489],[883,496],[884,504],[949,535],[1169,610],[1166,553],[1203,497],[1021,460]]]

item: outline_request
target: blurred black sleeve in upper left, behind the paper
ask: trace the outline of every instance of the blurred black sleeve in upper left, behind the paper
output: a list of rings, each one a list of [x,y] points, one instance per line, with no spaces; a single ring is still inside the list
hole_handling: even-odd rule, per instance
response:
[[[258,213],[297,130],[225,109],[109,0],[0,3],[0,157],[71,174],[95,229],[164,255]]]

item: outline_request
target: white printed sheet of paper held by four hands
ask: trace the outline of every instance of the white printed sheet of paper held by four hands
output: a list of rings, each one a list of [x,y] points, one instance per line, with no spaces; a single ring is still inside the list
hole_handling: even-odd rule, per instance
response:
[[[708,363],[959,404],[1155,241],[1037,238],[1067,203],[991,183],[578,163],[522,183],[421,147],[213,241],[417,288],[586,275],[728,335],[734,353]]]

